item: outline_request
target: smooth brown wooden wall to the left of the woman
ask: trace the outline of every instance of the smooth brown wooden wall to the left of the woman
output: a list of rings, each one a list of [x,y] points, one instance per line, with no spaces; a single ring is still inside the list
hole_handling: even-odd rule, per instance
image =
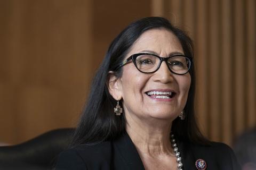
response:
[[[150,1],[0,1],[0,143],[74,127],[111,40]]]

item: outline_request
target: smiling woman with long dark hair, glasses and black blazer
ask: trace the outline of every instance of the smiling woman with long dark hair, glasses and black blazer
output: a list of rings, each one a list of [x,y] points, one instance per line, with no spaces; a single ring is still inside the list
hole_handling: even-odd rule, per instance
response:
[[[71,148],[57,169],[239,169],[233,151],[196,124],[190,38],[143,18],[111,43]]]

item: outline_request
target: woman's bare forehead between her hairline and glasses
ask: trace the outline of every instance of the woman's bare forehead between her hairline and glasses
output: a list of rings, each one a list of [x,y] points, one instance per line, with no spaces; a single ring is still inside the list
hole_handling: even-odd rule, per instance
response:
[[[143,50],[151,50],[164,56],[173,52],[183,53],[178,37],[166,29],[151,29],[143,32],[134,42],[129,54],[140,53]]]

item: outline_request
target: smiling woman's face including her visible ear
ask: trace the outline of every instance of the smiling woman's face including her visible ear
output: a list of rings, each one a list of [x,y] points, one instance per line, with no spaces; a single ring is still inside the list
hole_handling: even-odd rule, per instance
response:
[[[150,50],[153,54],[166,56],[163,58],[166,58],[168,62],[166,60],[166,62],[162,62],[163,60],[159,60],[161,58],[158,59],[154,55],[136,55],[145,50]],[[181,55],[177,56],[177,54]],[[127,127],[134,128],[137,124],[140,126],[143,124],[148,128],[154,127],[154,131],[160,131],[157,124],[166,124],[166,128],[171,127],[172,121],[185,108],[190,87],[190,74],[180,75],[175,73],[179,73],[180,70],[181,73],[186,73],[188,67],[183,66],[185,69],[179,69],[179,71],[173,69],[177,66],[173,66],[172,63],[178,63],[178,61],[182,61],[180,58],[184,57],[178,38],[166,29],[147,30],[133,44],[127,53],[127,56],[130,55],[135,56],[133,57],[135,62],[126,62],[122,67],[122,77],[118,78],[115,74],[110,74],[109,78],[111,96],[115,100],[123,100],[125,118],[127,125],[129,125]],[[151,56],[154,56],[158,62],[155,62]],[[184,63],[187,65],[186,62]],[[173,71],[171,72],[171,70]],[[152,92],[154,95],[148,95]],[[163,95],[163,92],[172,95]],[[171,129],[168,129],[169,132],[167,133],[170,133]],[[129,128],[126,128],[126,131],[129,132]],[[145,135],[143,134],[143,136]]]

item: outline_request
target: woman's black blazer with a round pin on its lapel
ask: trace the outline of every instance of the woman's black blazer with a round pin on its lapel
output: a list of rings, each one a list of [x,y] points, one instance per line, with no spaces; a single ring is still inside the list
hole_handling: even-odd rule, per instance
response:
[[[181,152],[183,169],[196,169],[197,159],[205,160],[206,170],[241,169],[233,150],[223,143],[211,146],[177,142]],[[68,149],[58,157],[56,170],[62,169],[145,169],[132,140],[124,133],[118,140],[95,145],[81,145]]]

